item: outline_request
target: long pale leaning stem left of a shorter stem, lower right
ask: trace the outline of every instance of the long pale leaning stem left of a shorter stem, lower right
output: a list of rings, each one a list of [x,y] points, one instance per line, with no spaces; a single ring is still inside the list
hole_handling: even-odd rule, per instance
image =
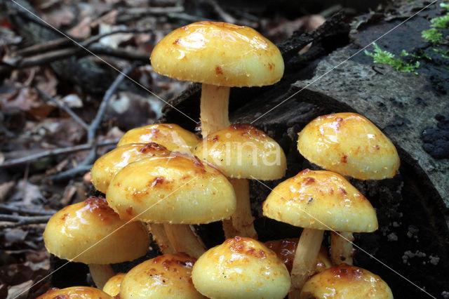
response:
[[[316,258],[323,241],[323,230],[304,228],[298,241],[290,278],[292,285],[288,298],[299,298],[302,286],[316,271]]]

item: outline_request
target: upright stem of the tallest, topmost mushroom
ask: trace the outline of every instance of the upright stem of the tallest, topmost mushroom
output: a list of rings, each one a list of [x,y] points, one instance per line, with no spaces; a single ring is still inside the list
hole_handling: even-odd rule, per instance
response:
[[[229,126],[228,86],[203,84],[201,87],[201,134],[206,138],[208,134]]]

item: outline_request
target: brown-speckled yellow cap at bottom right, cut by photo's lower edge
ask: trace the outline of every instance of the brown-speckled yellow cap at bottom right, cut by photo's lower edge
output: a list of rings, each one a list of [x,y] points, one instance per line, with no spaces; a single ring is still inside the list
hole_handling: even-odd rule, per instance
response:
[[[300,298],[393,298],[391,289],[377,275],[359,267],[341,264],[307,281]]]

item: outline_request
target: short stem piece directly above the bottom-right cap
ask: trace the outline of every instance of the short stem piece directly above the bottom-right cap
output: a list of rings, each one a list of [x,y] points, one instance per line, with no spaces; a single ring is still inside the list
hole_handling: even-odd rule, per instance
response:
[[[352,255],[354,253],[352,241],[354,241],[352,232],[339,232],[339,234],[331,232],[330,258],[332,259],[333,265],[340,265],[342,263],[352,265]]]

